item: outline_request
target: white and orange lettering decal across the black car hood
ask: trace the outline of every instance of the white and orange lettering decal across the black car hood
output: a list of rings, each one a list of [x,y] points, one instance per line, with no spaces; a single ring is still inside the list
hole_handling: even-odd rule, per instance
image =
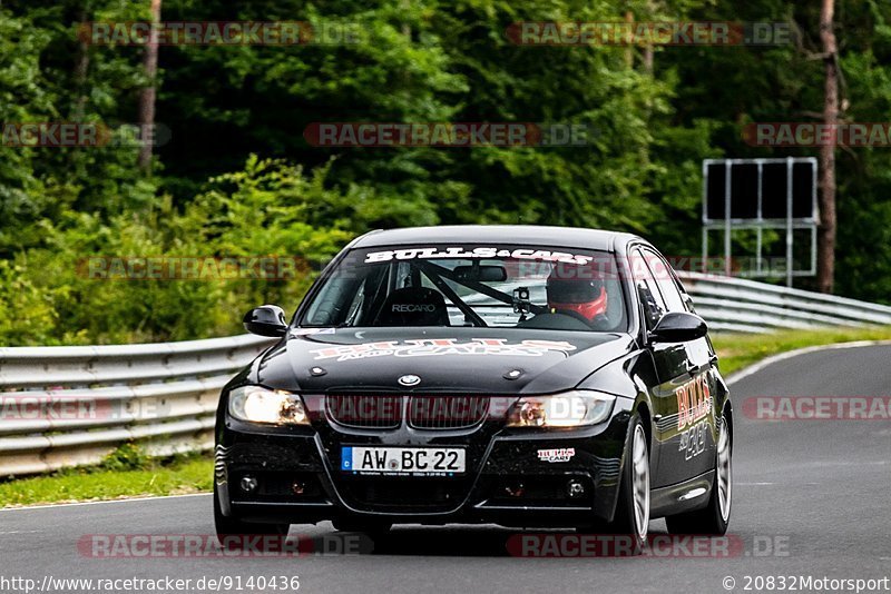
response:
[[[359,345],[332,346],[313,349],[315,360],[354,360],[371,357],[441,357],[447,355],[499,355],[540,357],[550,350],[568,353],[576,346],[565,340],[522,340],[508,343],[505,338],[474,338],[461,343],[457,338],[428,338],[419,340],[385,340]]]

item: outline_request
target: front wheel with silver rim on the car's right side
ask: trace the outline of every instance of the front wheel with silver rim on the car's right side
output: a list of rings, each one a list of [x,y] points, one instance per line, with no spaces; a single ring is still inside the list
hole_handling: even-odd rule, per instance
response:
[[[619,484],[619,498],[613,522],[596,521],[579,528],[630,538],[630,553],[644,551],[649,529],[649,442],[640,417],[631,417],[625,465]],[[616,552],[626,547],[615,547]]]

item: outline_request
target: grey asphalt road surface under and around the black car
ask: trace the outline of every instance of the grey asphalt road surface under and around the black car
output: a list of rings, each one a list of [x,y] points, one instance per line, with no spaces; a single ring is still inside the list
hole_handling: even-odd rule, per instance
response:
[[[283,590],[285,584],[276,580],[280,587],[273,590],[263,578],[298,576],[300,592],[388,594],[767,591],[768,583],[756,576],[775,576],[774,591],[780,576],[786,576],[786,588],[795,585],[807,592],[816,591],[815,585],[832,584],[815,582],[809,590],[791,578],[891,577],[891,422],[887,417],[758,420],[743,414],[745,400],[760,396],[888,396],[891,347],[796,356],[742,378],[732,393],[736,410],[732,546],[717,547],[714,553],[681,545],[662,548],[660,555],[670,553],[667,557],[654,551],[634,558],[521,558],[506,547],[515,533],[498,526],[398,526],[373,543],[373,553],[334,551],[273,558],[94,556],[146,551],[134,541],[124,542],[129,548],[121,545],[115,551],[109,545],[94,550],[97,542],[102,546],[121,543],[89,536],[95,534],[210,538],[212,499],[199,495],[2,511],[0,592],[25,592],[27,583],[10,582],[13,577],[35,580],[36,590],[48,588],[59,578],[170,577],[192,580],[184,591],[203,593],[217,591],[206,582],[199,584],[203,577],[224,578],[222,592],[237,592],[238,577],[241,592],[293,592],[295,581],[288,580]],[[655,521],[650,529],[664,534],[665,524]],[[372,545],[364,536],[335,533],[327,523],[292,526],[292,539],[297,535],[314,538],[315,548],[365,550]],[[697,556],[703,554],[706,556]],[[52,580],[45,583],[47,576]],[[254,580],[248,582],[251,576]],[[128,592],[127,585],[118,582],[112,591]],[[879,592],[885,591],[879,585]],[[89,592],[58,583],[55,591]]]

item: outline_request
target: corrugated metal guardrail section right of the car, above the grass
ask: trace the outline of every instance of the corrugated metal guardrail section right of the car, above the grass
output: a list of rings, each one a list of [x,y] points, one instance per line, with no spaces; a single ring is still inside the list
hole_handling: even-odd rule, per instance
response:
[[[768,333],[828,326],[891,325],[891,307],[754,280],[679,275],[696,311],[717,331]]]

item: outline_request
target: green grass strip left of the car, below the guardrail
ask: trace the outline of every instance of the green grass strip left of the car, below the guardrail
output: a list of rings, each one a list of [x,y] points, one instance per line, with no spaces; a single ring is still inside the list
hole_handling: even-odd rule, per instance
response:
[[[213,488],[214,462],[206,456],[148,462],[129,469],[77,468],[0,483],[0,507],[126,497],[182,495]]]

